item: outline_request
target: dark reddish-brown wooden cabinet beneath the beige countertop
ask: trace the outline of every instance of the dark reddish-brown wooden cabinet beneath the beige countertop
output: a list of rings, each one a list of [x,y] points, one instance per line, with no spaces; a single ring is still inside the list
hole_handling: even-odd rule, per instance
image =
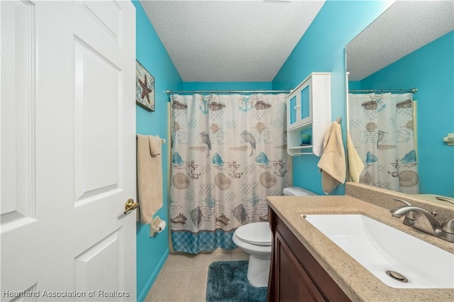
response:
[[[350,301],[298,238],[269,208],[272,254],[267,301]]]

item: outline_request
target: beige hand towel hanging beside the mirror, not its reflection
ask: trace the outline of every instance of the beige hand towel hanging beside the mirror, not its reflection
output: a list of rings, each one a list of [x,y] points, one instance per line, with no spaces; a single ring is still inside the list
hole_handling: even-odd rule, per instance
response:
[[[317,165],[321,169],[321,186],[325,194],[345,182],[345,151],[343,150],[342,129],[333,122],[323,140],[323,154]]]

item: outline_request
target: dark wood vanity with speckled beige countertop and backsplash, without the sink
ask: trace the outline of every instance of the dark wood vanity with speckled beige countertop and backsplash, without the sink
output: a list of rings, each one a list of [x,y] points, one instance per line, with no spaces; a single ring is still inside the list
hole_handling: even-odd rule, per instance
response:
[[[453,215],[453,208],[361,184],[345,188],[345,196],[267,198],[273,233],[268,301],[454,301],[454,289],[387,286],[301,217],[362,214],[454,254],[453,243],[414,230],[389,213],[399,206],[393,197],[436,211],[441,220]]]

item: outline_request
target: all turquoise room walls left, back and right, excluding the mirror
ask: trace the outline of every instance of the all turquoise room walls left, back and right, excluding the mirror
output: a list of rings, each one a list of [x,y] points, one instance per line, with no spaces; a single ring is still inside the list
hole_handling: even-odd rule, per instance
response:
[[[137,133],[160,135],[167,142],[167,101],[166,89],[170,90],[289,90],[311,72],[331,72],[333,119],[343,117],[345,129],[345,45],[371,23],[389,6],[386,1],[327,1],[314,22],[299,41],[282,69],[272,83],[207,83],[182,82],[165,48],[148,21],[138,1],[136,7],[136,51],[139,62],[155,77],[155,112],[145,111],[137,106]],[[166,147],[168,144],[166,145]],[[163,154],[167,162],[167,152]],[[321,174],[316,164],[319,157],[307,155],[294,157],[294,185],[304,186],[319,194]],[[163,165],[164,204],[157,213],[168,221],[167,187],[168,168]],[[333,194],[343,194],[340,186]],[[137,295],[143,301],[157,273],[167,259],[169,245],[167,233],[149,237],[148,225],[137,224]]]

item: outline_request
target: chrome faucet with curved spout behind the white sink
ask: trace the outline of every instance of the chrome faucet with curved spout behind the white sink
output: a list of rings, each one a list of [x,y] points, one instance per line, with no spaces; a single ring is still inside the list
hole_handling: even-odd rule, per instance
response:
[[[423,208],[409,205],[398,206],[389,212],[391,212],[393,217],[397,218],[401,218],[402,216],[412,212],[414,219],[413,221],[408,220],[407,223],[404,220],[406,225],[443,240],[454,242],[454,217],[448,218],[443,223],[440,223],[435,216],[433,216],[433,214]],[[407,219],[408,217],[406,217],[406,220]]]

